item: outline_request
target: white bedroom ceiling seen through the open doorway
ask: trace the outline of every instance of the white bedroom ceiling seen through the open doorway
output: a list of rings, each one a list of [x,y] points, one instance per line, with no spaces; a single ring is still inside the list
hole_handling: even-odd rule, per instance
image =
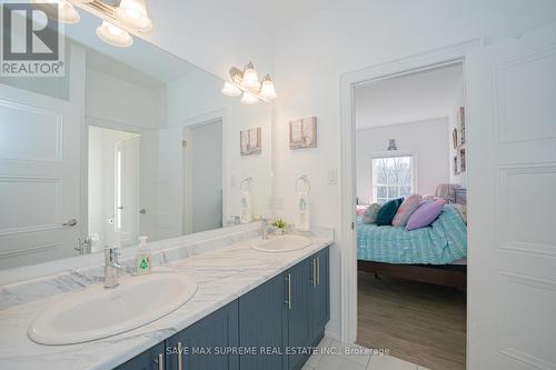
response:
[[[356,127],[374,128],[448,117],[463,93],[463,67],[385,79],[356,88]]]

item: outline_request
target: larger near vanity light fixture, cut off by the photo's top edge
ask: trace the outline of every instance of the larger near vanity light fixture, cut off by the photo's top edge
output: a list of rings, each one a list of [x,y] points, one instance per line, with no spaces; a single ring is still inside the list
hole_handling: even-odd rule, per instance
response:
[[[44,3],[47,1],[48,3]],[[31,3],[59,22],[77,23],[80,20],[76,7],[88,10],[98,17],[102,24],[97,36],[115,47],[129,47],[133,43],[132,32],[149,32],[152,21],[147,12],[146,0],[31,0]],[[52,11],[58,6],[58,16]]]

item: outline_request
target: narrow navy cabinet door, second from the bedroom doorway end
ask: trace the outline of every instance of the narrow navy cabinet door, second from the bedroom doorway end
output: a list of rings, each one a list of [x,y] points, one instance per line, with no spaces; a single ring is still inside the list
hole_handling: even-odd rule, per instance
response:
[[[301,351],[302,348],[308,348],[312,344],[312,330],[310,320],[311,309],[311,279],[312,279],[312,257],[308,258],[291,269],[286,274],[287,293],[289,292],[290,301],[288,304],[288,347],[290,352],[288,356],[289,369],[301,369],[304,363],[309,358],[308,353]]]

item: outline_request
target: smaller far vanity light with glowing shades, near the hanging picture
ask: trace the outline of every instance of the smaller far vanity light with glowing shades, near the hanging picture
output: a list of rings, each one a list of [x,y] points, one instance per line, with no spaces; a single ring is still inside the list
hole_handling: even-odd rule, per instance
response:
[[[227,97],[239,97],[242,93],[241,102],[244,104],[256,104],[259,101],[270,102],[278,98],[275,84],[270,74],[265,76],[262,81],[255,66],[249,62],[244,70],[232,67],[230,69],[231,81],[224,82],[224,88],[220,90]]]

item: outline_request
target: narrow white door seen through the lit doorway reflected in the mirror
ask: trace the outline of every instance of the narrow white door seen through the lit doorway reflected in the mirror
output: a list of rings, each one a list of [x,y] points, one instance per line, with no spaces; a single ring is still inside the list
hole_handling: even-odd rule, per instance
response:
[[[137,244],[139,237],[139,148],[141,138],[116,143],[116,232],[122,246]]]

